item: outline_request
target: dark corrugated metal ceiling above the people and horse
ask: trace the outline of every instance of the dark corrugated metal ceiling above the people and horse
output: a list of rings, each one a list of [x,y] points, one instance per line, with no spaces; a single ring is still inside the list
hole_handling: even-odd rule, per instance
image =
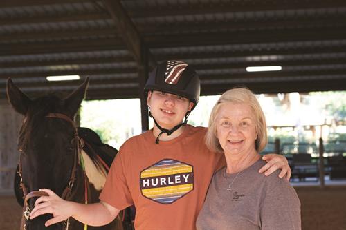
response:
[[[139,97],[143,61],[165,59],[197,68],[203,95],[237,84],[257,93],[346,90],[346,1],[110,2],[1,1],[0,99],[8,77],[35,97],[74,88],[80,82],[45,79],[69,74],[91,77],[89,99]],[[138,60],[138,41],[151,58]],[[262,65],[282,71],[246,73]]]

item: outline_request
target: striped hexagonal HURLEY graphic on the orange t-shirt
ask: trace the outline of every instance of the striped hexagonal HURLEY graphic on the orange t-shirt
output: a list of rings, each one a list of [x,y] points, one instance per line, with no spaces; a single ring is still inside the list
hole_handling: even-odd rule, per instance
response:
[[[140,173],[142,194],[161,204],[172,204],[194,188],[193,167],[163,159]]]

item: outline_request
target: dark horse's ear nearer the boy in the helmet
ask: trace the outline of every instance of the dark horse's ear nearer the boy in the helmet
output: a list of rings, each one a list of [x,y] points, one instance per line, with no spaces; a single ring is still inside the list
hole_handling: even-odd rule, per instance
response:
[[[86,88],[89,85],[89,77],[86,77],[83,84],[78,86],[68,97],[65,99],[67,113],[70,117],[73,117],[77,113],[80,104],[85,97]]]

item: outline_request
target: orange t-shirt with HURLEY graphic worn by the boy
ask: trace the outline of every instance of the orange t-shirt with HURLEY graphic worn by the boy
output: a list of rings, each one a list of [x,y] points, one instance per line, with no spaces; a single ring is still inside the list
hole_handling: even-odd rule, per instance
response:
[[[213,173],[224,155],[205,144],[206,128],[187,125],[174,140],[152,131],[131,137],[113,161],[100,200],[116,209],[136,207],[135,229],[196,229]]]

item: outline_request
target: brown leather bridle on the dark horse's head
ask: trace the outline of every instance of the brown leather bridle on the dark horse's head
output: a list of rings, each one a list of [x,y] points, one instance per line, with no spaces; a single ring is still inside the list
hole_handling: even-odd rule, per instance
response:
[[[77,127],[75,126],[75,123],[67,115],[64,115],[62,113],[48,113],[48,115],[46,115],[46,117],[64,119],[66,122],[69,122],[73,126],[73,129],[74,129],[74,137],[73,137],[73,140],[71,140],[71,142],[75,142],[75,148],[74,148],[75,154],[74,154],[74,160],[73,160],[73,168],[71,171],[69,184],[67,184],[66,188],[64,189],[64,191],[62,192],[62,195],[61,195],[62,199],[69,200],[71,198],[73,184],[76,180],[75,175],[77,172],[77,167],[80,164],[80,155],[82,154],[82,148],[84,146],[84,142],[78,135],[78,131],[77,131]],[[22,152],[22,149],[19,149],[19,151]],[[24,193],[24,209],[25,209],[25,211],[24,211],[23,215],[24,215],[24,218],[26,218],[26,221],[28,221],[29,216],[30,216],[30,212],[31,212],[29,204],[28,204],[28,200],[30,200],[31,198],[34,198],[34,197],[41,197],[44,195],[48,196],[48,194],[46,192],[43,192],[43,191],[31,191],[30,193],[28,193],[27,186],[23,182],[22,168],[21,168],[21,157],[19,157],[18,174],[20,177],[20,186],[21,186],[21,189],[23,190],[23,193]],[[66,226],[66,230],[68,230],[69,229],[69,218],[66,220],[66,222],[64,222],[64,224]],[[24,229],[26,229],[26,224],[24,224]]]

